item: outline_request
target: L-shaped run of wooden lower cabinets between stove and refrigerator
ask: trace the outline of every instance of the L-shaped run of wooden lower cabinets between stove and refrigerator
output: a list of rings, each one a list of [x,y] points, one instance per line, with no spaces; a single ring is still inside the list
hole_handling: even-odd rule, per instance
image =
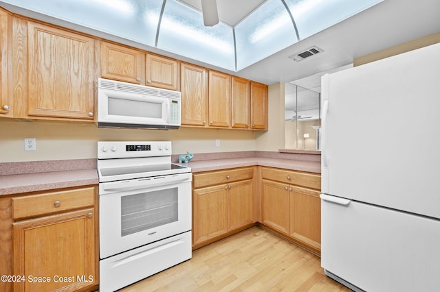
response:
[[[261,173],[254,175],[256,169]],[[243,167],[195,173],[192,178],[194,250],[259,221],[272,232],[320,254],[318,173]]]

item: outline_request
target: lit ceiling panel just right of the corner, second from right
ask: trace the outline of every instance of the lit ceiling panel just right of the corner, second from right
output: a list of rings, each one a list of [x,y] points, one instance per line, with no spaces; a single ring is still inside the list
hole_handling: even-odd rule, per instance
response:
[[[239,71],[297,41],[292,19],[282,1],[268,0],[235,27]]]

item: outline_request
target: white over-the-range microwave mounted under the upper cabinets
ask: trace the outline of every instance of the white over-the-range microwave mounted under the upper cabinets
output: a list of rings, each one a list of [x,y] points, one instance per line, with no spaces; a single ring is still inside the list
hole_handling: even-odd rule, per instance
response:
[[[178,129],[179,91],[98,79],[98,127]]]

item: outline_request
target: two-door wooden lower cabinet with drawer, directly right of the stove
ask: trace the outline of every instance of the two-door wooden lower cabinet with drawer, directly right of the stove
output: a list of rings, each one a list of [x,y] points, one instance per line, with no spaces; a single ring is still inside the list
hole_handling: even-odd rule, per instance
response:
[[[252,226],[254,167],[193,175],[192,248]]]

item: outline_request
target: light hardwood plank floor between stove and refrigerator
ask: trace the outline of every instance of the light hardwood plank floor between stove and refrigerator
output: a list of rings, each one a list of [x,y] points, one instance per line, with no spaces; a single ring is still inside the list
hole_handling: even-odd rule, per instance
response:
[[[318,256],[254,226],[121,291],[351,290],[325,276]]]

